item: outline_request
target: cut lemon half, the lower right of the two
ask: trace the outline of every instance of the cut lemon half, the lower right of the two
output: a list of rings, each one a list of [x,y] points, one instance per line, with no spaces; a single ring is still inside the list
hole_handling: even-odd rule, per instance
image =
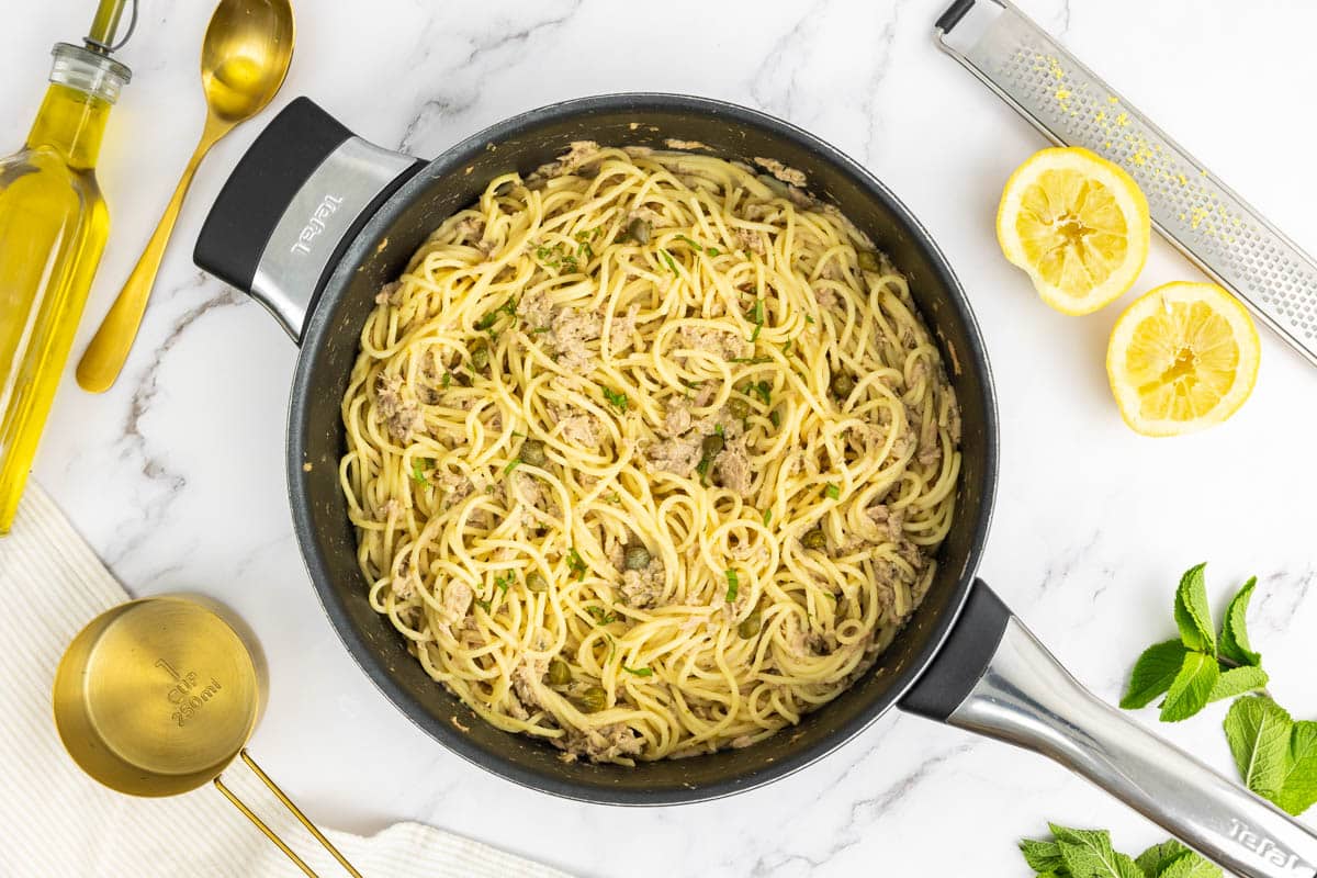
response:
[[[1168,283],[1135,299],[1112,329],[1106,375],[1125,423],[1144,436],[1220,424],[1258,379],[1252,317],[1214,283]]]

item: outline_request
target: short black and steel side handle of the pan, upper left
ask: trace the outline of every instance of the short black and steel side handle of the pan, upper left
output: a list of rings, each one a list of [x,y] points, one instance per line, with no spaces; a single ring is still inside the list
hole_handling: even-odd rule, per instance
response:
[[[242,155],[196,240],[199,269],[252,295],[300,342],[361,226],[423,162],[356,137],[307,97]]]

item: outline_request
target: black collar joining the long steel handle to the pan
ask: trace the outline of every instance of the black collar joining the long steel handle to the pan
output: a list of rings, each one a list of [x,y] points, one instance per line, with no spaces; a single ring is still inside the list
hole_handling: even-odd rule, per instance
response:
[[[942,649],[898,707],[939,723],[951,716],[988,670],[1010,616],[997,592],[976,579]]]

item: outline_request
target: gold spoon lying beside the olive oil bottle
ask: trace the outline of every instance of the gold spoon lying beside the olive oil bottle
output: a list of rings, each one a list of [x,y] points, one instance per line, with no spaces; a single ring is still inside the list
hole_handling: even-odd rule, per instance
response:
[[[221,0],[216,7],[202,43],[207,105],[202,140],[137,266],[83,351],[78,363],[78,383],[83,390],[100,394],[119,378],[192,175],[216,141],[259,113],[279,91],[292,61],[292,32],[288,0]]]

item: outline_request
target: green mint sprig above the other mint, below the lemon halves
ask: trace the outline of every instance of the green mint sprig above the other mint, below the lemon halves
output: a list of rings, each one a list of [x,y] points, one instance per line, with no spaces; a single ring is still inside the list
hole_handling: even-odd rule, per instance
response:
[[[1246,616],[1249,598],[1258,579],[1243,584],[1231,599],[1226,621],[1217,636],[1208,604],[1205,563],[1189,567],[1175,591],[1175,623],[1180,638],[1155,644],[1134,663],[1121,707],[1137,710],[1159,695],[1163,723],[1187,720],[1210,702],[1263,690],[1267,673],[1262,656],[1249,644]]]

